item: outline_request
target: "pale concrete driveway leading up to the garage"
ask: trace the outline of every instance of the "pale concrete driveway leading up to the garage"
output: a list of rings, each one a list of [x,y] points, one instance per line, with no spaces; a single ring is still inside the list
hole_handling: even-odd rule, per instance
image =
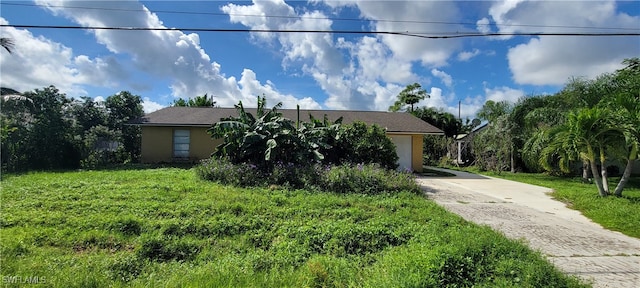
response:
[[[640,287],[640,239],[606,230],[553,200],[551,189],[466,172],[419,177],[425,194],[463,218],[524,239],[594,287]],[[595,192],[594,192],[595,193]]]

